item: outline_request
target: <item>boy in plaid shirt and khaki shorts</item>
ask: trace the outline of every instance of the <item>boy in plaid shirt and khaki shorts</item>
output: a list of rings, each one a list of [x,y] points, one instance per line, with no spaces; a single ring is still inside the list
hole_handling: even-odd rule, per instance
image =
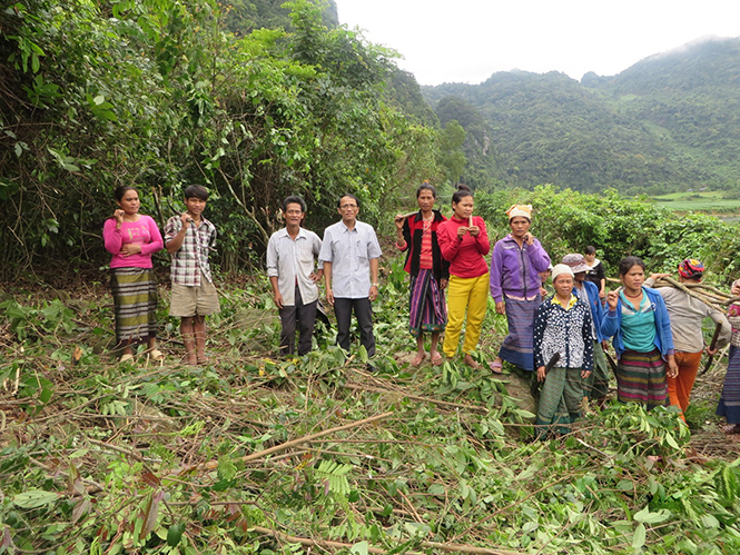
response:
[[[165,226],[165,247],[172,256],[170,316],[179,316],[188,364],[207,363],[206,316],[220,310],[208,264],[216,244],[216,226],[203,217],[208,190],[201,185],[185,189],[187,211]]]

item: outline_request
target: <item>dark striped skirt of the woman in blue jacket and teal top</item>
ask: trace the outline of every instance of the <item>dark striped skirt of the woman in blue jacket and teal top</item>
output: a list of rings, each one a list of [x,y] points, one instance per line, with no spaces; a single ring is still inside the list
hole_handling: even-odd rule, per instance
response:
[[[616,365],[616,398],[622,403],[642,403],[648,408],[668,405],[665,363],[660,350],[622,353]]]

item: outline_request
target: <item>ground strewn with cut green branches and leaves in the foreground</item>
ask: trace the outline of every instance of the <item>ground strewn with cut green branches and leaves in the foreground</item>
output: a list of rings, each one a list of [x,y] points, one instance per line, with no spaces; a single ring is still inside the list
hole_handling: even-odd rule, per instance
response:
[[[0,553],[737,553],[738,444],[713,416],[610,404],[530,442],[529,383],[411,368],[403,271],[386,264],[378,356],[317,337],[275,357],[263,278],[221,286],[210,363],[116,364],[101,276],[6,295]],[[504,331],[490,314],[481,359]],[[514,395],[512,395],[514,394]],[[526,399],[524,399],[526,400]]]

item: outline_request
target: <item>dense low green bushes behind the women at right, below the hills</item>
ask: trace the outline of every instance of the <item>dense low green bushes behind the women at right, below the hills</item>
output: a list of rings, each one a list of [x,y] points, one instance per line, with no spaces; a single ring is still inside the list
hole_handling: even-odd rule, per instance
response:
[[[647,197],[624,198],[613,189],[603,195],[580,194],[545,185],[533,191],[478,192],[475,200],[476,210],[492,227],[492,239],[509,232],[504,212],[512,204],[531,204],[532,232],[553,260],[593,245],[612,277],[628,255],[643,258],[650,272],[675,271],[684,258],[699,258],[708,278],[726,285],[740,272],[737,225],[704,214],[677,215]]]

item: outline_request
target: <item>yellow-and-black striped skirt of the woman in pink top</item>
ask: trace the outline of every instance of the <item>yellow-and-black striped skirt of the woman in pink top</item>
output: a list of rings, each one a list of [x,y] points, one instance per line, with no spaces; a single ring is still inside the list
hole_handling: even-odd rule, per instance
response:
[[[111,268],[119,345],[157,337],[157,280],[151,268]]]

